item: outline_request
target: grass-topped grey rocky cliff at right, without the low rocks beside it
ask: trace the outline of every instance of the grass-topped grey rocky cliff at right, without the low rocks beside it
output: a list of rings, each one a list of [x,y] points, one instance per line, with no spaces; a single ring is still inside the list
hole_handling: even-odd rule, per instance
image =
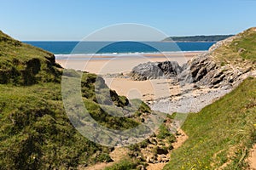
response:
[[[205,54],[191,59],[178,78],[213,88],[241,82],[245,74],[255,70],[255,28],[217,42]],[[247,46],[251,43],[250,46]]]

